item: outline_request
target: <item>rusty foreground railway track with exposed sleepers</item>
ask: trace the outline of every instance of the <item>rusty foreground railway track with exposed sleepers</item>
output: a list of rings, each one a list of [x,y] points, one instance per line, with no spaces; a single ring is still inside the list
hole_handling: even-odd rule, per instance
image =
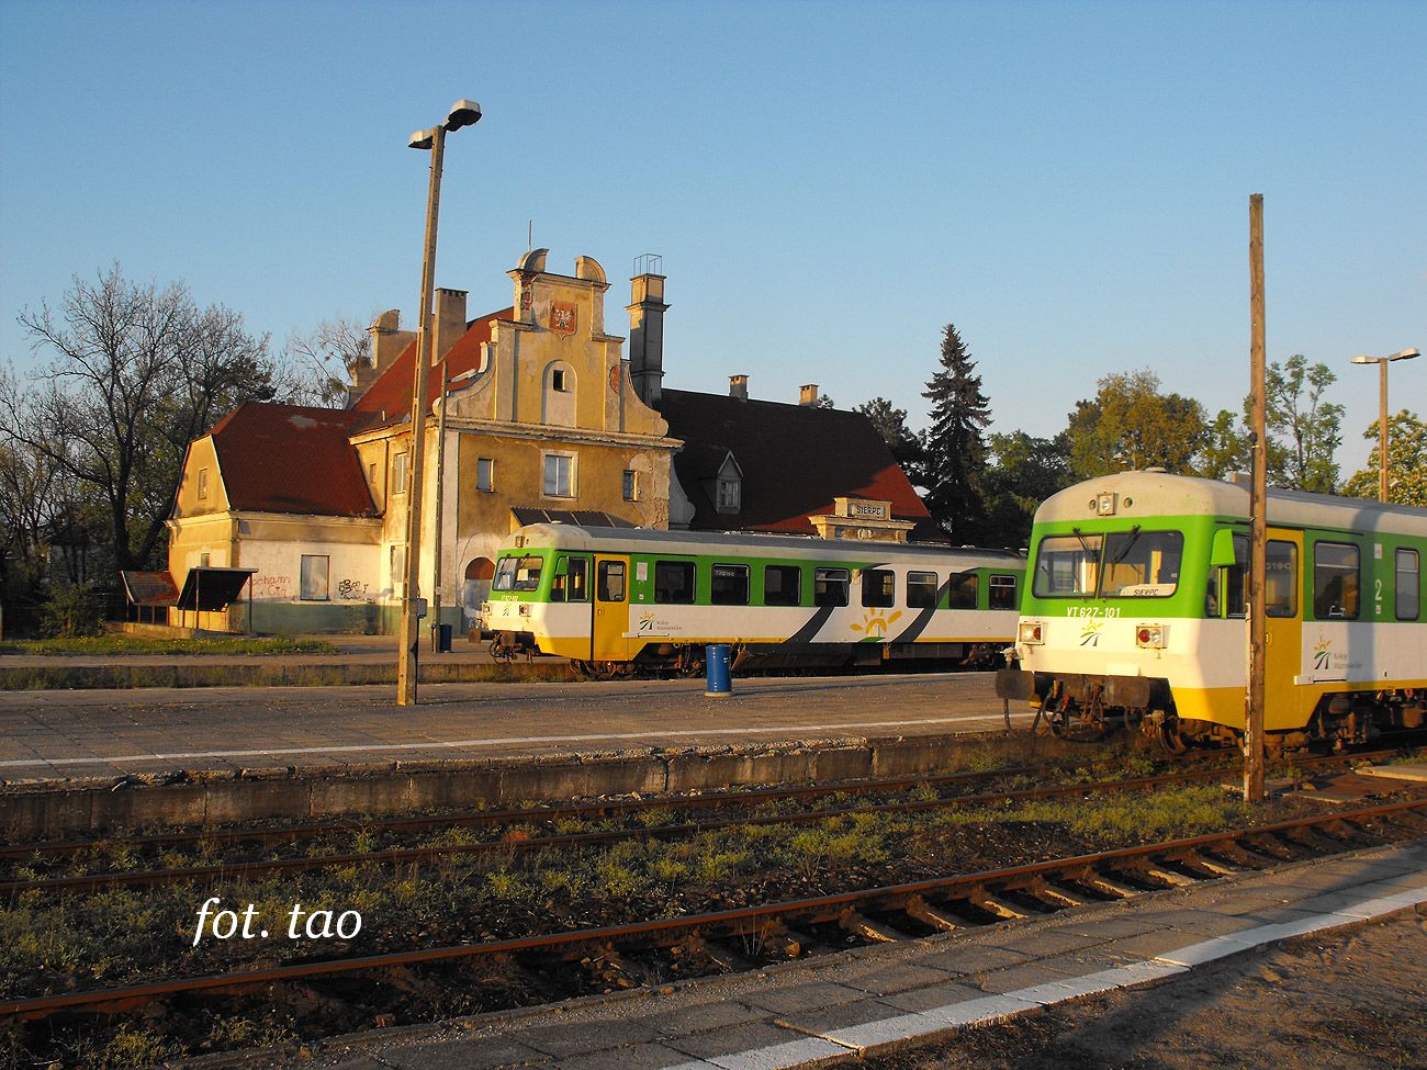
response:
[[[799,957],[849,942],[895,942],[1055,913],[1092,902],[1130,899],[1237,872],[1417,837],[1427,832],[1427,799],[1300,817],[1162,843],[1060,857],[1006,869],[925,879],[798,900],[678,917],[247,969],[150,984],[68,992],[0,1002],[0,1019],[110,1014],[158,999],[234,994],[274,984],[458,962],[596,962],[632,987],[651,974],[645,960],[704,960],[708,972]],[[656,973],[656,970],[655,970]],[[527,970],[527,976],[534,972]],[[666,974],[665,974],[666,976]]]

